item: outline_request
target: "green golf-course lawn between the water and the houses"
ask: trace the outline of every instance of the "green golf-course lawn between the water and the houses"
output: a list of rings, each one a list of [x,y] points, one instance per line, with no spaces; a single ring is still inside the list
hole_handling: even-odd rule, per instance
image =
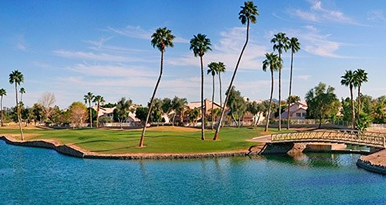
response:
[[[286,130],[280,131],[288,132]],[[213,141],[214,131],[206,130],[207,140],[202,141],[199,129],[182,127],[152,127],[146,131],[145,148],[138,148],[141,130],[112,129],[25,129],[26,140],[51,139],[61,144],[74,144],[82,149],[97,153],[205,153],[239,151],[248,149],[256,142],[253,137],[278,133],[264,132],[264,128],[223,128],[220,140]],[[18,129],[0,129],[0,135],[11,134],[20,139]]]

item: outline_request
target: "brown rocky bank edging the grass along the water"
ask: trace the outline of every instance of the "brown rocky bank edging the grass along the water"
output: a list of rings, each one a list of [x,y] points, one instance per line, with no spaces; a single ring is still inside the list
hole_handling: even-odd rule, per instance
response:
[[[249,150],[230,151],[230,152],[210,152],[210,153],[125,153],[125,154],[102,154],[90,152],[81,149],[75,145],[61,145],[57,141],[53,140],[33,140],[33,141],[21,141],[13,138],[12,136],[1,136],[0,139],[5,140],[7,144],[26,146],[26,147],[39,147],[56,150],[58,153],[78,157],[78,158],[90,158],[90,159],[190,159],[190,158],[214,158],[214,157],[231,157],[231,156],[250,156],[257,155],[261,146],[253,146]]]

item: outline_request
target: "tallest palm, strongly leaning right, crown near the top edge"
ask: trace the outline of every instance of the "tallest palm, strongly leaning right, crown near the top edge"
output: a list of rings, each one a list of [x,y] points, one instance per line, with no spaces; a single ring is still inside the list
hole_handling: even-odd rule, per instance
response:
[[[253,4],[253,2],[244,2],[244,6],[241,6],[241,11],[239,12],[239,19],[241,20],[241,24],[243,24],[243,25],[247,24],[247,36],[245,38],[244,46],[242,47],[241,53],[240,53],[239,58],[237,60],[235,71],[233,72],[232,79],[231,79],[231,82],[229,84],[228,90],[231,90],[231,88],[233,86],[233,80],[236,77],[236,72],[237,72],[237,69],[239,67],[242,54],[244,53],[245,48],[247,48],[248,39],[249,39],[249,25],[250,24],[256,24],[256,16],[257,15],[259,15],[257,12],[257,7]],[[225,114],[225,108],[226,108],[226,104],[228,103],[230,93],[231,92],[228,92],[228,94],[225,97],[224,107],[221,110],[220,119],[219,119],[219,122],[217,125],[215,136],[213,137],[213,140],[219,139],[218,135],[219,135],[219,131],[220,131],[220,128],[222,125],[222,118],[224,117],[224,114]]]

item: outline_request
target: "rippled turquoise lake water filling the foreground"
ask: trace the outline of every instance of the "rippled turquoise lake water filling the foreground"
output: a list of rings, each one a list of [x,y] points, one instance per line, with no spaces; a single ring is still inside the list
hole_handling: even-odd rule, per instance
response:
[[[0,140],[0,204],[386,204],[359,155],[99,160]]]

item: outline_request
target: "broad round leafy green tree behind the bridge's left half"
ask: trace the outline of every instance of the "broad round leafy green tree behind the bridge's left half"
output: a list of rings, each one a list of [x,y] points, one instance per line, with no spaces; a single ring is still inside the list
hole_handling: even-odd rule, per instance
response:
[[[334,118],[339,112],[340,102],[334,93],[334,88],[324,83],[306,93],[307,113],[310,117],[319,119],[319,128],[325,118]]]

